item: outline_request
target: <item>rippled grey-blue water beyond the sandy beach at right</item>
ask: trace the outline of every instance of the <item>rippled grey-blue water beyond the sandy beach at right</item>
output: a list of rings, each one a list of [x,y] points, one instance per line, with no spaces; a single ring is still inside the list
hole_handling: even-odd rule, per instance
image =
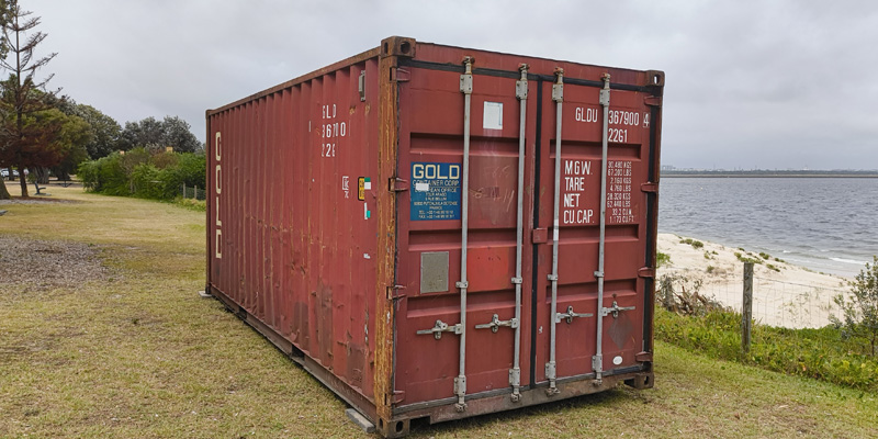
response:
[[[878,179],[664,178],[658,230],[853,278],[878,255]]]

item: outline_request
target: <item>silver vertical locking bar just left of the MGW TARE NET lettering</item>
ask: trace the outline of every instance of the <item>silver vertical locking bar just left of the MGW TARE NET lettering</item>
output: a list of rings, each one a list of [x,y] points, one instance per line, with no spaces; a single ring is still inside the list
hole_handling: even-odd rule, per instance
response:
[[[555,102],[555,203],[552,217],[552,274],[549,281],[552,282],[552,314],[558,314],[558,245],[559,245],[559,207],[561,204],[561,110],[564,103],[564,69],[555,68],[555,83],[552,86],[552,100]],[[545,378],[549,380],[549,389],[545,393],[549,396],[559,393],[555,374],[555,319],[551,318],[549,362],[545,363]]]

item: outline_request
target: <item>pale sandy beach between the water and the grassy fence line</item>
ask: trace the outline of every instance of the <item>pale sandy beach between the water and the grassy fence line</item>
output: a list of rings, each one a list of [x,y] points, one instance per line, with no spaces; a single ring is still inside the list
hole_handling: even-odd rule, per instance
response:
[[[687,239],[695,245],[688,244]],[[830,324],[829,316],[836,313],[832,297],[848,289],[848,279],[787,263],[783,261],[783,255],[761,256],[746,249],[674,234],[658,234],[658,251],[668,255],[671,261],[658,268],[657,279],[677,277],[676,290],[685,288],[691,292],[697,289],[700,294],[712,296],[738,311],[743,296],[744,262],[741,259],[761,261],[754,266],[753,316],[766,325],[825,326]]]

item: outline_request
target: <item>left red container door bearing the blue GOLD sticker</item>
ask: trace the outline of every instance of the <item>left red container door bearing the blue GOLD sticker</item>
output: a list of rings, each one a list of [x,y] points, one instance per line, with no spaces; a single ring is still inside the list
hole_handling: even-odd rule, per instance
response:
[[[398,86],[397,397],[404,405],[459,403],[511,392],[527,384],[530,367],[532,277],[520,273],[530,273],[533,256],[534,142],[531,134],[522,157],[518,79],[466,79],[459,70],[412,66],[405,75]],[[530,133],[534,115],[536,105],[526,106]],[[519,182],[527,188],[520,200]]]

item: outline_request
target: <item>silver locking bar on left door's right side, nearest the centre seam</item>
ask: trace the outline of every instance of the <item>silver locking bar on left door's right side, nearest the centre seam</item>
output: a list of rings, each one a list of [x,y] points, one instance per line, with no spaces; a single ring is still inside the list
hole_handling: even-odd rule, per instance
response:
[[[509,385],[513,386],[510,398],[514,403],[521,399],[521,257],[525,245],[525,127],[527,126],[528,109],[528,65],[518,66],[521,79],[515,83],[515,97],[518,99],[518,209],[516,213],[516,247],[515,247],[515,348],[513,352],[513,369],[509,369]],[[496,314],[494,315],[496,318]],[[496,328],[492,328],[497,331]]]

